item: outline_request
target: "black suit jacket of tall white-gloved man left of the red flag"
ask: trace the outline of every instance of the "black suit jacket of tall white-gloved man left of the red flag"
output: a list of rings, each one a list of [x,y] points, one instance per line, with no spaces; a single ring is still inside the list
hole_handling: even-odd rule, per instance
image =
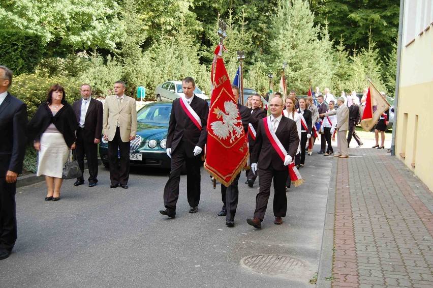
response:
[[[171,153],[173,153],[179,143],[183,143],[187,146],[185,147],[187,156],[194,157],[194,148],[198,146],[203,149],[206,144],[209,105],[206,100],[194,96],[190,106],[201,119],[201,130],[197,129],[197,126],[180,106],[180,99],[175,99],[171,107],[168,125],[167,148],[171,148]]]

